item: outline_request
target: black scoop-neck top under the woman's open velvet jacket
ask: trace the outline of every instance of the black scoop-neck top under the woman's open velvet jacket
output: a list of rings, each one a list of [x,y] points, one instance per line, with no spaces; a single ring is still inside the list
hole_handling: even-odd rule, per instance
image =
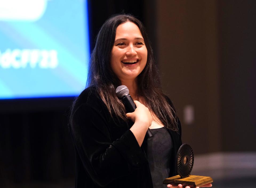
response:
[[[172,152],[171,135],[166,127],[151,129],[153,137],[147,139],[147,160],[154,188],[166,188],[163,184],[169,178],[170,155]]]

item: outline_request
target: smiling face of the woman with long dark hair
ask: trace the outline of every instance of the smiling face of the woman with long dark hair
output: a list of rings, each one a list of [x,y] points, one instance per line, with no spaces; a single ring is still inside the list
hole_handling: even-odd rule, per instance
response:
[[[125,22],[117,27],[110,65],[121,81],[134,80],[147,63],[147,48],[137,25]]]

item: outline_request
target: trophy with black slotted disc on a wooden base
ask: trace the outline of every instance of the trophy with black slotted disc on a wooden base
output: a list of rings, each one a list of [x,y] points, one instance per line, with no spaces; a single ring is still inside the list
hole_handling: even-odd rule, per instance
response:
[[[190,175],[194,165],[194,153],[190,145],[185,143],[179,147],[175,162],[179,175],[166,178],[163,184],[175,186],[182,184],[183,187],[190,186],[192,188],[213,182],[211,177]]]

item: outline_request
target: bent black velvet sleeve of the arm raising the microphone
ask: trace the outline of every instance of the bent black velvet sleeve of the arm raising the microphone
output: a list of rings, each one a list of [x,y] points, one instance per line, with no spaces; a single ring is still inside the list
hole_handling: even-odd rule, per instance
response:
[[[71,117],[70,133],[87,174],[99,186],[127,175],[147,163],[136,138],[127,130],[111,141],[102,112],[82,103]]]

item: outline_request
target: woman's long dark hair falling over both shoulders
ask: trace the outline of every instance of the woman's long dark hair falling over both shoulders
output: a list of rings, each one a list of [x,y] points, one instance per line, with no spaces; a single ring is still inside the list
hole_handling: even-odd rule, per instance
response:
[[[155,65],[153,50],[145,27],[141,21],[132,15],[113,15],[102,25],[90,58],[87,87],[96,87],[112,116],[116,115],[123,120],[127,120],[123,103],[115,94],[115,89],[121,85],[121,81],[110,67],[110,56],[114,46],[116,30],[120,24],[125,22],[133,22],[139,27],[148,53],[146,66],[138,75],[136,94],[145,100],[147,107],[157,115],[163,125],[177,131],[175,110],[172,105],[169,105],[168,99],[162,93],[160,74]]]

